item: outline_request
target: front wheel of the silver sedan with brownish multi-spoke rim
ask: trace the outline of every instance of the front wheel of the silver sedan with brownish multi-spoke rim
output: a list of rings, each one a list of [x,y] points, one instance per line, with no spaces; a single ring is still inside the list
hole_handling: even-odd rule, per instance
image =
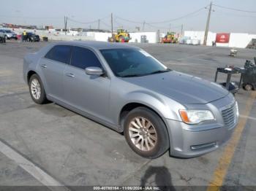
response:
[[[146,107],[135,108],[127,114],[124,136],[129,147],[146,158],[157,158],[170,147],[165,123]]]

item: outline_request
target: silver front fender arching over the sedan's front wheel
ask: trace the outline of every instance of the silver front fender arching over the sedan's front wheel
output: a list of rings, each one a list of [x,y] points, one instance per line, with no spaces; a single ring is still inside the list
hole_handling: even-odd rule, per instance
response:
[[[146,88],[124,82],[118,78],[115,79],[113,79],[110,92],[110,114],[113,123],[120,124],[121,110],[125,105],[131,103],[148,106],[157,112],[162,119],[180,120],[177,112],[178,109],[184,109],[184,106],[178,102]]]

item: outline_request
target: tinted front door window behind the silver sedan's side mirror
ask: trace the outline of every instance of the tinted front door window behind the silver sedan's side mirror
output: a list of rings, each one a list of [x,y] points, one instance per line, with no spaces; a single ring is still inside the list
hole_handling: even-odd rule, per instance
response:
[[[72,48],[71,66],[75,66],[79,69],[86,69],[91,66],[102,68],[94,52],[84,47]]]

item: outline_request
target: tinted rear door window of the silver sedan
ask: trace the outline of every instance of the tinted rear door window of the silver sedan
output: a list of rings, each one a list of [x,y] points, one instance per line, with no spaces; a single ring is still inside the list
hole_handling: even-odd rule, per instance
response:
[[[61,63],[69,63],[70,55],[71,55],[70,46],[56,45],[45,55],[45,58],[48,58],[53,61],[59,61]]]

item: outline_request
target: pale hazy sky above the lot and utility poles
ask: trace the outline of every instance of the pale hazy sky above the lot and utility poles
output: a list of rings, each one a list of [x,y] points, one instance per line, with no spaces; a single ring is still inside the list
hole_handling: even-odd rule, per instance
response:
[[[145,31],[180,32],[181,25],[184,31],[205,30],[210,0],[0,0],[0,4],[4,5],[0,23],[64,28],[67,16],[68,28],[98,28],[99,23],[99,28],[110,30],[112,12],[114,28],[135,31],[139,27],[141,31],[144,26]],[[213,4],[251,12],[214,5],[209,31],[256,34],[256,0],[214,0]]]

